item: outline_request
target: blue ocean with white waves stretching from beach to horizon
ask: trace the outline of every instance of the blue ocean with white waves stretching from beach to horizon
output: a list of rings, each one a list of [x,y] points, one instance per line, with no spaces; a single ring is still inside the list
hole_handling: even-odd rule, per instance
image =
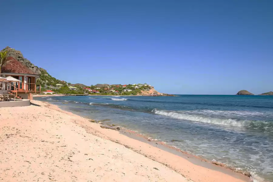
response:
[[[273,181],[273,96],[35,97]]]

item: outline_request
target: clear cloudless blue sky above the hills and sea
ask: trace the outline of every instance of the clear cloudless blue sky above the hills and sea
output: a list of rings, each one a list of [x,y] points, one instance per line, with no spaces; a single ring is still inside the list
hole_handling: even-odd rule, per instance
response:
[[[273,91],[272,0],[1,3],[0,48],[60,80],[163,93]]]

